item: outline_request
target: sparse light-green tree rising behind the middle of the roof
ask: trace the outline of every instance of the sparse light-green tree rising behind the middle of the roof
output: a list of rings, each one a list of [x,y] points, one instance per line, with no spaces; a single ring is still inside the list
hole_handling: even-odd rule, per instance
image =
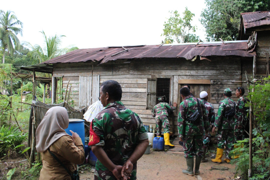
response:
[[[174,40],[177,43],[188,43],[198,41],[198,36],[191,34],[191,32],[196,31],[196,26],[191,26],[192,17],[194,13],[191,13],[187,7],[183,12],[183,17],[177,10],[171,11],[171,17],[164,24],[163,34],[165,38],[165,43],[173,43]]]

